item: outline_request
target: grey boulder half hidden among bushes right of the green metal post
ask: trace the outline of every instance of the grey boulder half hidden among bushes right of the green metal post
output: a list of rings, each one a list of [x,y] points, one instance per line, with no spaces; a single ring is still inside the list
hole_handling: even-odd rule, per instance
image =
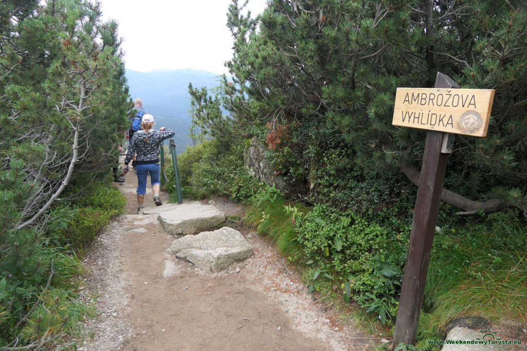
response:
[[[307,182],[294,179],[289,175],[276,174],[265,160],[267,146],[258,141],[257,137],[251,139],[248,147],[243,151],[243,164],[249,173],[258,178],[260,182],[274,184],[285,197],[300,200],[309,192]]]

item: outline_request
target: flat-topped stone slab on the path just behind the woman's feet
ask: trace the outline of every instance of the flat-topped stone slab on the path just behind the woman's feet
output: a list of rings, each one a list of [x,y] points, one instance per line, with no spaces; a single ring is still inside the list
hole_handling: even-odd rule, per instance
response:
[[[144,210],[144,214],[159,213],[158,220],[167,234],[187,235],[213,230],[225,222],[225,214],[216,207],[199,202],[170,204]]]

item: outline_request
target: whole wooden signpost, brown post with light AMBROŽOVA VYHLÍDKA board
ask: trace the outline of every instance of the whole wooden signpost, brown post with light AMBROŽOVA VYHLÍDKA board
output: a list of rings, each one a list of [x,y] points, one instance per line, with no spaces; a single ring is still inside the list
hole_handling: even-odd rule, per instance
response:
[[[484,137],[489,126],[494,90],[459,87],[437,73],[434,88],[397,88],[392,124],[428,132],[392,349],[399,343],[415,343],[446,163],[452,152],[448,133]]]

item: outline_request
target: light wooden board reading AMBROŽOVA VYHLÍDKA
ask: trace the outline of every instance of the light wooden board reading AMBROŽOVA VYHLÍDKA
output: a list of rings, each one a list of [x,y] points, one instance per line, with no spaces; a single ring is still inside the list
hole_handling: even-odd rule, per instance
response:
[[[486,136],[494,89],[397,88],[392,124]]]

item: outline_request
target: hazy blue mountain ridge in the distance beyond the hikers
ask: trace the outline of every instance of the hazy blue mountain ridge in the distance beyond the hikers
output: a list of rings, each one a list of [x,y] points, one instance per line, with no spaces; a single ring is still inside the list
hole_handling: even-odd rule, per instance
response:
[[[219,85],[218,77],[202,69],[156,69],[149,72],[126,69],[132,99],[142,99],[144,109],[155,118],[155,128],[174,129],[178,153],[192,144],[187,135],[191,123],[189,83],[210,89]]]

